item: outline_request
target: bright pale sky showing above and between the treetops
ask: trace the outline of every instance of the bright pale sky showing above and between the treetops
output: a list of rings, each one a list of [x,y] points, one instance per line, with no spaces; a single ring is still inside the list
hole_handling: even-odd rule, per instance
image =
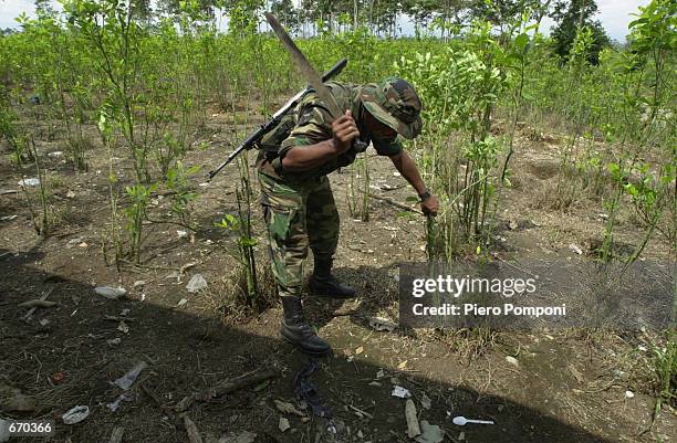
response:
[[[634,20],[631,14],[636,13],[638,7],[648,2],[649,0],[597,0],[600,9],[597,19],[610,38],[623,42],[627,34],[627,24]],[[29,17],[35,14],[33,0],[0,0],[0,29],[17,28],[14,18],[23,11]],[[545,32],[551,24],[552,22],[544,21]],[[406,32],[407,25],[403,28]]]

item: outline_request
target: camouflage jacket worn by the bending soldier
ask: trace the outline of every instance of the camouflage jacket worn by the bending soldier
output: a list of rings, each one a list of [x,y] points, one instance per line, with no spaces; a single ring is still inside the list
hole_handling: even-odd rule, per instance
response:
[[[362,141],[366,145],[373,141],[374,149],[381,156],[394,156],[402,151],[403,147],[398,138],[390,141],[372,140],[364,118],[367,110],[362,104],[360,94],[363,86],[340,82],[329,82],[326,85],[336,97],[338,106],[352,112]],[[351,165],[360,154],[355,147],[308,171],[291,172],[282,168],[281,161],[291,148],[310,146],[332,138],[330,122],[330,113],[317,96],[314,93],[305,95],[294,112],[285,116],[280,125],[268,133],[259,143],[259,146],[265,152],[265,156],[262,155],[259,158],[259,170],[277,179],[303,182],[315,180],[321,176]],[[268,157],[268,161],[265,157]]]

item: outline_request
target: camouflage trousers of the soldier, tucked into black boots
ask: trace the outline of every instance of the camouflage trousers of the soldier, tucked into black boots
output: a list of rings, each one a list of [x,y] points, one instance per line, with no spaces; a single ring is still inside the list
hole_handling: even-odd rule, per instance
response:
[[[268,251],[281,297],[301,296],[303,262],[331,257],[338,244],[338,211],[326,176],[302,184],[259,172]]]

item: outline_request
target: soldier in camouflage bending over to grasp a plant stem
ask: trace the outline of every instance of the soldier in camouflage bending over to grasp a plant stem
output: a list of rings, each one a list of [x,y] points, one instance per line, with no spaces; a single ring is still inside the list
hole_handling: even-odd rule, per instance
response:
[[[381,84],[326,84],[345,114],[332,122],[314,93],[308,94],[280,125],[259,144],[261,203],[268,229],[269,253],[284,310],[280,333],[301,351],[324,355],[330,345],[306,324],[301,287],[310,244],[314,268],[309,282],[314,295],[352,298],[355,289],[332,275],[338,243],[338,212],[327,173],[347,166],[358,144],[373,144],[416,189],[424,213],[435,215],[438,200],[426,189],[416,165],[397,135],[413,139],[420,133],[420,99],[402,78]],[[332,123],[330,123],[332,122]]]

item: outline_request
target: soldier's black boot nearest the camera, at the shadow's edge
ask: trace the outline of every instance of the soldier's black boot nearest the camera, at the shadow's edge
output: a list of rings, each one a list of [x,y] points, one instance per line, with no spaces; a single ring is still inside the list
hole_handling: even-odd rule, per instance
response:
[[[323,356],[332,351],[330,344],[317,337],[303,318],[301,297],[282,297],[282,325],[280,334],[303,354]]]

